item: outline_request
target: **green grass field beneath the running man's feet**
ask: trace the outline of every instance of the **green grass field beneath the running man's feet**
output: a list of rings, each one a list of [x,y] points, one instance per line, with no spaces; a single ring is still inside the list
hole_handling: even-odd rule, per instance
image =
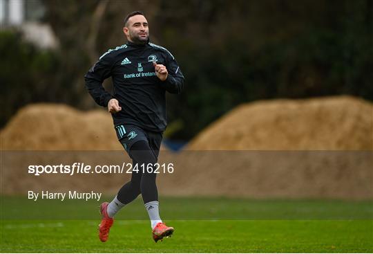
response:
[[[99,242],[97,201],[1,197],[1,252],[372,253],[371,201],[161,198],[173,237],[155,244],[142,200]]]

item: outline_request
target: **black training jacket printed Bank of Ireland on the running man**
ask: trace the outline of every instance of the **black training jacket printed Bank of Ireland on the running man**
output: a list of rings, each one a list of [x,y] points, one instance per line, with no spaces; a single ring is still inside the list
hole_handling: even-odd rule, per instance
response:
[[[164,64],[169,75],[162,82],[155,74],[153,62]],[[114,94],[102,87],[113,79]],[[95,102],[107,107],[116,98],[122,111],[112,114],[114,125],[136,125],[149,131],[166,129],[165,93],[181,93],[184,76],[175,58],[166,48],[152,43],[144,45],[127,42],[110,49],[84,76],[86,89]]]

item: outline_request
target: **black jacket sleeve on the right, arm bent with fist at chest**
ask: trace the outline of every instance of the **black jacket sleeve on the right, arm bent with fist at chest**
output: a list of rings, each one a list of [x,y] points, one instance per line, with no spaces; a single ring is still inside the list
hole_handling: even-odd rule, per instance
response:
[[[169,51],[166,52],[166,68],[169,75],[167,75],[166,80],[161,83],[162,86],[166,91],[169,91],[169,93],[180,94],[184,89],[184,75],[182,75],[178,62],[176,62]]]

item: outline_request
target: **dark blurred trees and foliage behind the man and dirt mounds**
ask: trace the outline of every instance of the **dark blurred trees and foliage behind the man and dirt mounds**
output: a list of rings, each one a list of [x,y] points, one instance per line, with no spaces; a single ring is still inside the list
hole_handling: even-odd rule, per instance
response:
[[[242,102],[350,94],[373,100],[373,1],[48,1],[43,21],[59,40],[40,50],[0,31],[1,127],[30,102],[97,107],[84,74],[125,43],[123,19],[142,10],[151,41],[185,76],[168,96],[169,138],[189,140]],[[111,90],[111,80],[105,87]]]

